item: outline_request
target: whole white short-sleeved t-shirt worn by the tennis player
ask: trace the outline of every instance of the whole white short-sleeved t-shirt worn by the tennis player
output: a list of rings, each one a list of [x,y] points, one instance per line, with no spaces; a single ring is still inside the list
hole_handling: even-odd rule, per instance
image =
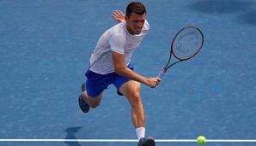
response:
[[[125,66],[127,66],[131,61],[133,51],[137,49],[148,32],[149,23],[147,20],[145,20],[142,32],[136,35],[131,35],[127,31],[125,21],[108,29],[101,35],[96,44],[94,53],[90,58],[89,70],[100,74],[113,73],[112,51],[125,55]]]

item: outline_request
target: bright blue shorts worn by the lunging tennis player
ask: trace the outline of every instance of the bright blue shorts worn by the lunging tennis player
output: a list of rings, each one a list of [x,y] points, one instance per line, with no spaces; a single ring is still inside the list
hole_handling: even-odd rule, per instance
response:
[[[133,70],[134,68],[132,65],[128,65],[128,67],[131,70]],[[120,96],[123,96],[119,92],[119,88],[121,85],[131,80],[131,79],[126,79],[117,73],[99,74],[99,73],[94,73],[93,71],[90,71],[90,70],[88,70],[85,73],[85,76],[87,77],[87,81],[86,81],[87,94],[88,96],[91,96],[91,97],[99,96],[102,91],[107,89],[108,85],[112,85],[112,84],[117,88],[118,94]]]

